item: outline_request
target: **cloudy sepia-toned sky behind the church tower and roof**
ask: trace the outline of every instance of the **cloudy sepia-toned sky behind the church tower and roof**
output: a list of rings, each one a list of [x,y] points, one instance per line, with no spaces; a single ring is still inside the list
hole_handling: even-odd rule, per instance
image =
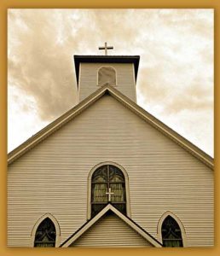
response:
[[[213,9],[9,9],[8,150],[77,104],[73,55],[140,55],[137,103],[213,156]]]

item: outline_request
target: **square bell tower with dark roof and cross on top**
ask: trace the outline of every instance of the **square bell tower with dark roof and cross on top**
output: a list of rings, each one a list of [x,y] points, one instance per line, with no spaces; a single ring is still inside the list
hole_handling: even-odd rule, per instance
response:
[[[124,96],[136,102],[136,78],[139,55],[74,55],[75,71],[78,84],[79,102],[104,84],[110,84]]]

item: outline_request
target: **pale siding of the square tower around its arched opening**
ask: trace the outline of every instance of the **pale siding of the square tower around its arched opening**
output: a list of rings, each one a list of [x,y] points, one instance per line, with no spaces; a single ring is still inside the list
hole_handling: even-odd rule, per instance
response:
[[[98,70],[100,67],[110,66],[116,70],[115,88],[136,102],[136,82],[134,65],[132,63],[81,63],[79,74],[79,101],[81,102],[100,86],[98,83]]]

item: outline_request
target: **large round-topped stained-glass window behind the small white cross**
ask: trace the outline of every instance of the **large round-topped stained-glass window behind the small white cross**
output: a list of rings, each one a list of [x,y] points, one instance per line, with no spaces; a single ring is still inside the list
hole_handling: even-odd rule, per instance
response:
[[[100,166],[91,177],[91,217],[111,202],[126,214],[124,174],[116,166]]]

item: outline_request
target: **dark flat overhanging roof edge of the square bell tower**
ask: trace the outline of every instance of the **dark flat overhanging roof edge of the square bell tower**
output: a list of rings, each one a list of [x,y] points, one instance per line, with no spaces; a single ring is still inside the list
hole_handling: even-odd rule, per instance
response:
[[[134,63],[135,77],[137,77],[137,71],[139,66],[139,55],[74,55],[74,63],[78,84],[78,71],[79,63]]]

